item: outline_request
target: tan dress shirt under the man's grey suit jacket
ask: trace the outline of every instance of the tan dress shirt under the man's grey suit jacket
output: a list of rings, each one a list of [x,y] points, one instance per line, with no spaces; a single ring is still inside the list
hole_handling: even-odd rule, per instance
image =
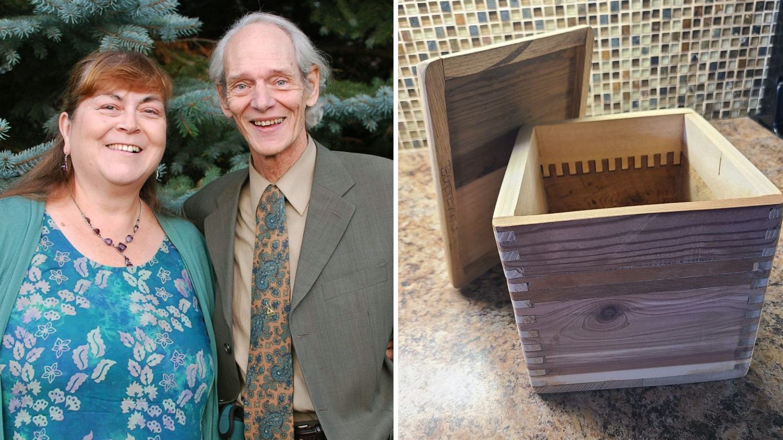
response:
[[[308,136],[307,147],[294,165],[286,171],[276,185],[286,198],[286,226],[288,229],[289,269],[291,291],[296,280],[301,240],[305,234],[305,220],[310,202],[313,174],[316,170],[316,142]],[[244,382],[247,373],[247,353],[250,348],[251,277],[255,247],[255,210],[258,200],[270,182],[250,164],[250,180],[240,191],[239,212],[236,215],[234,235],[234,292],[233,292],[233,341],[234,358]],[[290,293],[289,293],[290,294]],[[317,420],[316,409],[310,400],[305,377],[302,376],[299,359],[294,353],[294,420]],[[236,399],[240,404],[244,386]]]

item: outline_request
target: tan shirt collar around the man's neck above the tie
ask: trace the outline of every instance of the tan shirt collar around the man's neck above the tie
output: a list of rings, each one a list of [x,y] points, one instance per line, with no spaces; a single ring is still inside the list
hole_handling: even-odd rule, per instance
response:
[[[298,215],[305,215],[305,209],[310,202],[312,190],[312,178],[316,171],[316,142],[307,135],[307,146],[294,165],[280,177],[276,185],[283,192],[288,203],[297,211]],[[272,183],[266,180],[255,168],[253,159],[250,159],[250,197],[253,207],[258,206],[258,200],[267,186]]]

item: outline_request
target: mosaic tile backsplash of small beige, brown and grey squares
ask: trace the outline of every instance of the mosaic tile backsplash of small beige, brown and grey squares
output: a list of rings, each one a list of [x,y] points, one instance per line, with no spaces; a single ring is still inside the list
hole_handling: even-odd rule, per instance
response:
[[[760,107],[780,0],[400,0],[399,147],[427,146],[416,65],[588,24],[587,115],[689,107],[707,119]]]

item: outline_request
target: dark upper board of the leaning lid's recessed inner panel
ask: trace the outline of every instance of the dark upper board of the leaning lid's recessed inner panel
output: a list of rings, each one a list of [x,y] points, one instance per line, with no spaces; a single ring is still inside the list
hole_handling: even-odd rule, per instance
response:
[[[574,63],[576,51],[560,50],[446,80],[457,189],[508,164],[521,124],[579,117],[580,107],[572,99],[573,78],[581,74]],[[483,196],[494,200],[497,194]]]

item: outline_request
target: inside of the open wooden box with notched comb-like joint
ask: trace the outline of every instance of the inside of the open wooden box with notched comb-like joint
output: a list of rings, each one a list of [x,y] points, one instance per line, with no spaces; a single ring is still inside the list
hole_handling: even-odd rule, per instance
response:
[[[515,155],[507,168],[507,180],[518,185],[513,214],[501,209],[496,217],[779,194],[691,112],[527,127],[518,135]],[[501,189],[498,207],[509,195]]]

